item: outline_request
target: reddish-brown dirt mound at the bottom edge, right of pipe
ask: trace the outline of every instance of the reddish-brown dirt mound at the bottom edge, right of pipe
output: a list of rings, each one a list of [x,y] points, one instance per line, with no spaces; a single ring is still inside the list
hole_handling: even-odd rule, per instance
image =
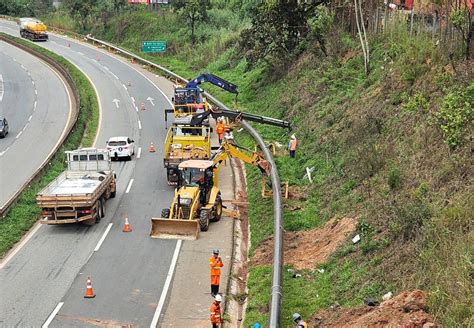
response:
[[[426,310],[426,293],[406,291],[376,307],[324,310],[309,321],[310,327],[438,327]]]

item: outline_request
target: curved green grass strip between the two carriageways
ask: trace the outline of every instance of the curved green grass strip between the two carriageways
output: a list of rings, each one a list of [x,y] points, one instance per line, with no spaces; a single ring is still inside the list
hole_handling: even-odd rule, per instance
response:
[[[3,258],[40,217],[41,212],[36,205],[36,194],[66,168],[64,151],[92,145],[97,132],[99,107],[95,91],[89,80],[73,64],[32,42],[4,33],[1,35],[30,47],[59,63],[71,75],[80,96],[79,115],[72,132],[59,147],[44,172],[21,193],[7,215],[0,220],[0,257]]]

